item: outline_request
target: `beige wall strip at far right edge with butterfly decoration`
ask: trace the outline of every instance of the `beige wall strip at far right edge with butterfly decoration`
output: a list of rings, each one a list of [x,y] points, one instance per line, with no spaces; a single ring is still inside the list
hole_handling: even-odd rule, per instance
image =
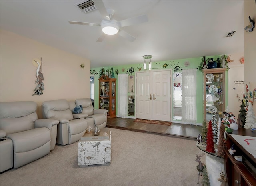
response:
[[[256,22],[255,0],[244,1],[244,27],[249,24],[249,16]],[[250,83],[250,90],[256,88],[256,28],[252,32],[244,30],[244,80]],[[252,107],[256,112],[255,100]]]

